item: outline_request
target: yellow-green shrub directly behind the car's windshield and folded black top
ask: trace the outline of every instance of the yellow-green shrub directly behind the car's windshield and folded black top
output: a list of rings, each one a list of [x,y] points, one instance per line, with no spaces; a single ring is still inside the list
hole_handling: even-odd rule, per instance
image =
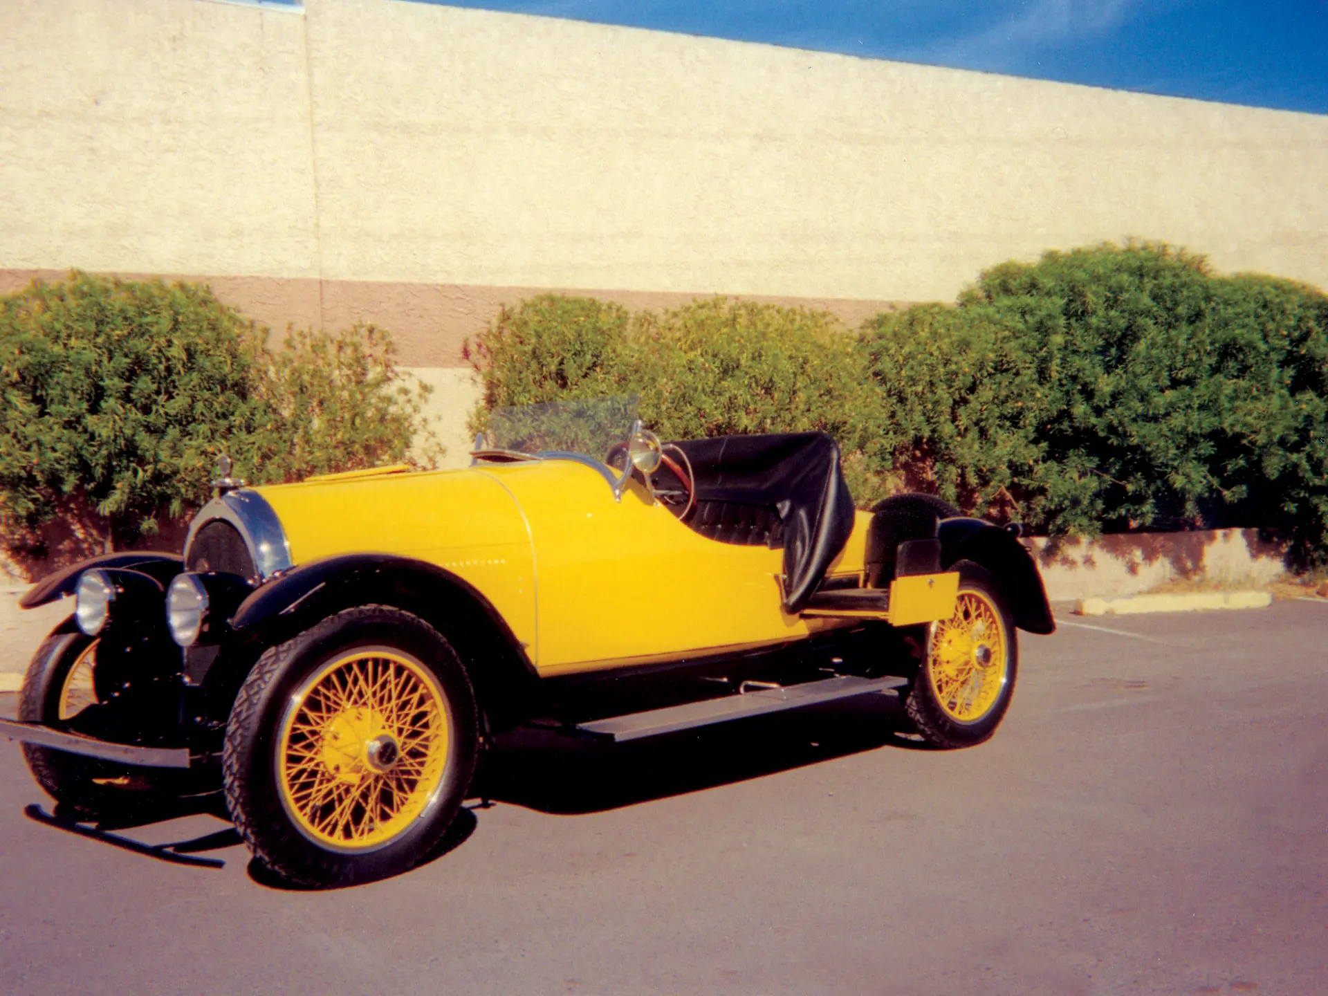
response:
[[[467,344],[486,412],[592,398],[637,398],[664,438],[821,429],[845,448],[855,494],[884,495],[882,446],[863,413],[871,386],[854,336],[825,312],[725,299],[632,316],[616,304],[543,295]]]

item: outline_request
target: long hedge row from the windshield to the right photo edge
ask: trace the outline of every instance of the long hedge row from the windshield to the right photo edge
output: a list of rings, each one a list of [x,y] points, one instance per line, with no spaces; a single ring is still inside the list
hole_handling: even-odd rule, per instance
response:
[[[485,409],[636,393],[665,437],[822,429],[863,506],[923,490],[1053,535],[1271,526],[1324,559],[1328,297],[1167,246],[1005,263],[857,333],[540,296],[469,351]]]

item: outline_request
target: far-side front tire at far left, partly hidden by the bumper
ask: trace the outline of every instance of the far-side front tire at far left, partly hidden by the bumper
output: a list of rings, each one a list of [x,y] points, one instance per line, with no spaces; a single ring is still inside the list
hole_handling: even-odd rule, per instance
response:
[[[56,627],[37,648],[24,675],[19,695],[19,718],[23,722],[72,728],[69,717],[61,716],[65,683],[86,653],[96,653],[96,643],[94,637],[74,629],[68,619]],[[124,817],[129,810],[159,805],[171,797],[169,789],[158,784],[162,778],[159,770],[117,765],[32,744],[23,745],[23,756],[32,777],[48,795],[90,817]]]

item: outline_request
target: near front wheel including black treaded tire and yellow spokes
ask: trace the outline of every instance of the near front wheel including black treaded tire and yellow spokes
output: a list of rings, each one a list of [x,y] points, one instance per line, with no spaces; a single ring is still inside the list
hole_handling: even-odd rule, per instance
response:
[[[392,655],[390,660],[382,655]],[[336,684],[340,679],[335,677],[340,673],[339,668],[380,667],[374,661],[381,661],[384,668],[402,668],[404,680],[418,683],[424,689],[418,693],[424,699],[412,700],[410,708],[424,709],[426,706],[420,705],[420,701],[425,701],[433,713],[445,716],[448,724],[441,728],[446,730],[442,748],[437,748],[440,734],[436,732],[429,732],[426,740],[417,737],[416,744],[424,744],[420,748],[424,752],[421,757],[434,750],[442,757],[420,762],[441,768],[429,776],[421,774],[413,786],[401,781],[404,776],[400,773],[392,774],[392,758],[397,758],[397,764],[406,764],[408,746],[396,746],[397,741],[390,737],[400,738],[404,745],[410,742],[397,728],[393,728],[396,732],[390,736],[384,733],[363,744],[356,741],[355,746],[348,748],[352,752],[367,752],[356,754],[353,764],[359,766],[353,772],[349,761],[345,774],[340,766],[335,772],[331,766],[328,758],[332,756],[328,752],[333,748],[327,745],[343,730],[337,726],[343,721],[339,717],[377,716],[372,709],[381,708],[380,705],[365,699],[369,704],[349,709],[349,693],[343,695],[341,712],[331,712],[331,706],[319,705],[321,712],[312,713],[309,710],[313,705],[301,705],[305,700],[317,704],[321,701],[317,699],[320,695],[340,695],[340,685]],[[417,714],[420,713],[412,713],[412,717]],[[316,737],[308,732],[313,729],[308,725],[313,720],[301,718],[315,716],[321,717],[323,724]],[[417,722],[416,718],[410,721]],[[307,725],[300,726],[300,722]],[[430,730],[438,729],[436,720],[429,720],[429,724]],[[336,733],[332,732],[333,728]],[[349,729],[347,740],[355,741],[361,728],[345,729]],[[301,744],[296,742],[297,737],[304,738]],[[365,766],[378,762],[373,745],[384,737],[393,745],[386,762],[389,768]],[[381,744],[378,746],[382,748]],[[222,754],[226,805],[254,857],[276,876],[316,887],[369,882],[405,871],[440,841],[470,786],[477,750],[474,691],[452,645],[432,625],[409,612],[386,606],[361,606],[328,616],[299,636],[268,648],[259,657],[240,688],[226,728],[226,748]],[[316,785],[307,782],[315,788],[305,791],[296,782],[303,777],[323,781]],[[356,781],[349,782],[349,788],[343,788],[351,777]],[[376,778],[377,782],[373,781]],[[388,778],[397,781],[384,789]],[[433,778],[437,778],[436,784]],[[426,784],[432,786],[428,791],[418,789]],[[408,786],[408,790],[398,797],[401,785]],[[303,799],[301,791],[305,791]],[[414,791],[420,794],[412,794]],[[345,810],[345,818],[353,822],[353,814],[360,813],[364,826],[343,827],[336,822],[337,817],[328,815],[329,809],[341,810],[345,799],[351,795],[361,798],[361,793],[367,793],[363,794],[363,803],[353,799],[347,803],[349,809]],[[319,801],[311,802],[313,797]],[[386,809],[384,798],[392,801]],[[406,809],[412,799],[422,806],[418,815],[412,815]],[[369,811],[371,801],[374,806],[373,815]],[[390,805],[398,805],[401,811],[393,814]],[[398,822],[400,829],[390,834],[380,831],[380,818],[388,826]],[[402,823],[401,819],[406,822]],[[355,837],[356,833],[360,837]],[[385,834],[381,841],[374,837],[380,833]]]

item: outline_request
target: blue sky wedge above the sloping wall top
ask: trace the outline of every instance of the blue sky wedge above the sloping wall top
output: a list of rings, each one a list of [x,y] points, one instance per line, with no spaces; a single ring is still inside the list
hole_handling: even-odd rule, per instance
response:
[[[1328,0],[449,0],[448,5],[1328,114]]]

